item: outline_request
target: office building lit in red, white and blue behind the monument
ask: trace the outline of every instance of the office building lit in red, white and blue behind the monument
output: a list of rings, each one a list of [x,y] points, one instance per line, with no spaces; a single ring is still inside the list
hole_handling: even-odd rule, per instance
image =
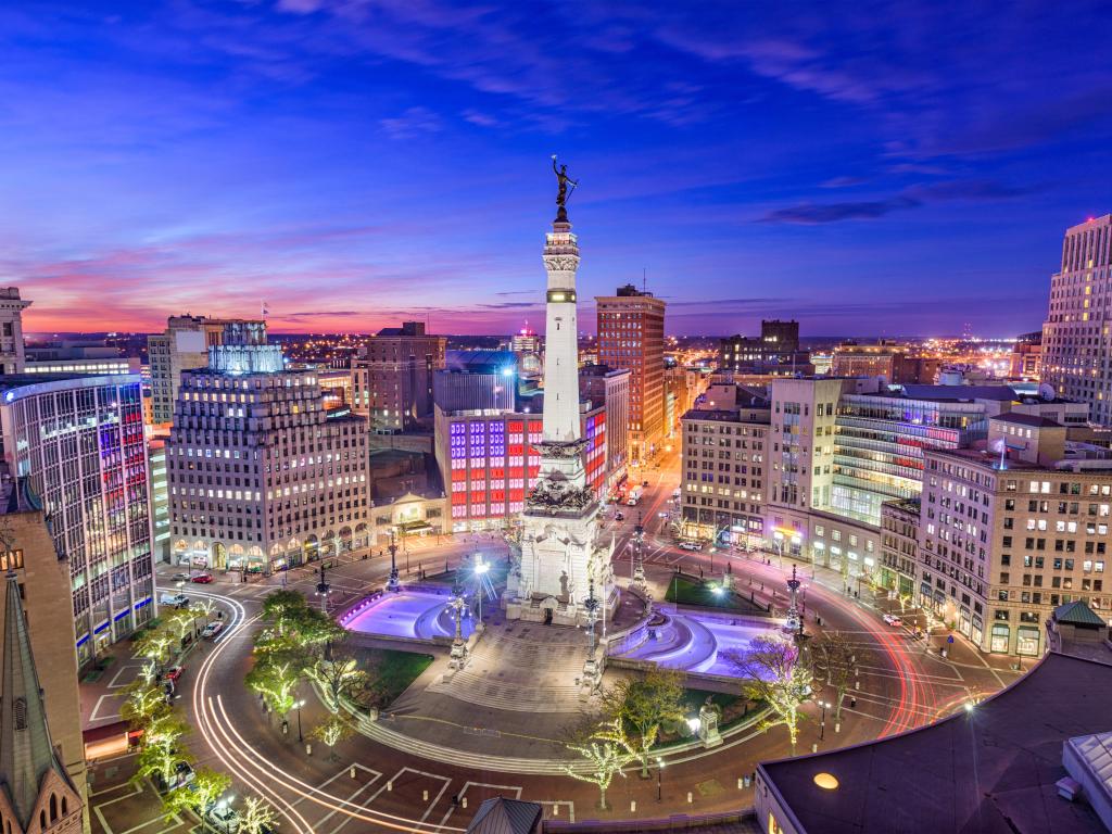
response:
[[[535,403],[535,405],[540,405]],[[606,488],[606,406],[580,401],[586,485]],[[543,419],[534,413],[436,409],[436,463],[450,505],[453,533],[512,526],[540,477]]]

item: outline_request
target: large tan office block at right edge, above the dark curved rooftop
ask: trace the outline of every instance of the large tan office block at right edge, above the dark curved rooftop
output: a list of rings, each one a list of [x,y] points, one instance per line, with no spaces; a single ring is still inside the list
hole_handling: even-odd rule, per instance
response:
[[[929,450],[916,593],[982,652],[1039,656],[1054,608],[1112,615],[1112,459],[1025,414],[990,420],[984,450]]]

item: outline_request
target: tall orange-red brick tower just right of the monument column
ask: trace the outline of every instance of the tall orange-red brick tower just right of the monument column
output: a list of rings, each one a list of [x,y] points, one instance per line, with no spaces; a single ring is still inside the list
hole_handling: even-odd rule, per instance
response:
[[[595,298],[598,363],[629,370],[629,459],[651,458],[664,437],[664,300],[632,284]]]

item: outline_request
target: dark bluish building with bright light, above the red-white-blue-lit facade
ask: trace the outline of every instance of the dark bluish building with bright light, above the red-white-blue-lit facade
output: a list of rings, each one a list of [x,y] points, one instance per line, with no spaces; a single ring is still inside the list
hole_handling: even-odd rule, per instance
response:
[[[513,411],[517,355],[509,350],[448,350],[433,375],[433,400],[445,411]]]

